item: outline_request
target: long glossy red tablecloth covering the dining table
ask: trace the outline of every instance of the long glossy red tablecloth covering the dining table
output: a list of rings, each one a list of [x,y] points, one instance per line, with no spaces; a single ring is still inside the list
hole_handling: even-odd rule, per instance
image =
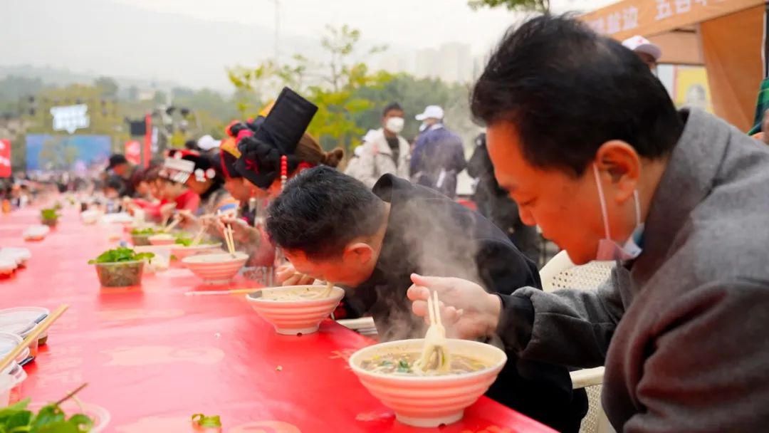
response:
[[[0,246],[32,251],[27,268],[0,280],[0,308],[71,305],[25,367],[22,395],[57,399],[88,382],[82,399],[107,408],[107,431],[118,433],[191,431],[198,412],[221,415],[227,433],[431,431],[395,421],[349,370],[367,338],[332,321],[314,335],[277,335],[241,296],[185,296],[202,287],[183,269],[145,275],[140,289],[102,289],[86,261],[110,246],[105,229],[64,213],[45,240],[26,243],[37,212],[0,215]],[[551,429],[481,398],[464,421],[434,431]]]

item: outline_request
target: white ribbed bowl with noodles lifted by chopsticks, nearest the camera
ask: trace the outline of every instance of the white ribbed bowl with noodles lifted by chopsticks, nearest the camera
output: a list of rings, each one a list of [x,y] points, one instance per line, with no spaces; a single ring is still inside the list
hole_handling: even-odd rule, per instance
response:
[[[449,425],[461,420],[464,409],[484,395],[508,357],[501,349],[478,341],[449,338],[446,343],[452,371],[445,375],[385,372],[384,361],[395,362],[397,368],[398,358],[417,358],[424,338],[362,348],[350,357],[350,367],[401,423],[423,428]]]

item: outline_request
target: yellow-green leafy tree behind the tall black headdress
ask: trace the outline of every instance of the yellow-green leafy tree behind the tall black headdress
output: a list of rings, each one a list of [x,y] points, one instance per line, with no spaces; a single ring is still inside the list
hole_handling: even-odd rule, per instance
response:
[[[228,76],[239,91],[257,95],[275,95],[282,86],[294,89],[318,105],[318,114],[308,132],[318,137],[324,148],[352,148],[358,145],[365,132],[355,122],[355,116],[374,107],[374,103],[362,98],[358,91],[381,88],[392,78],[387,72],[371,72],[365,63],[352,59],[360,38],[358,29],[329,25],[321,38],[321,48],[328,53],[328,62],[315,63],[295,55],[290,62],[281,65],[267,61],[257,68],[231,68]],[[365,55],[384,49],[371,48]],[[256,114],[255,110],[247,112],[249,108],[245,105],[239,105],[238,109],[245,117]]]

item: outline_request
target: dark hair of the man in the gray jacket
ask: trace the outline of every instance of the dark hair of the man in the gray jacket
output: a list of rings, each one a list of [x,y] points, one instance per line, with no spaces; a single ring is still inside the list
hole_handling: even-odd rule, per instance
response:
[[[638,55],[569,16],[508,31],[475,83],[471,110],[486,125],[511,122],[531,165],[578,176],[612,139],[642,157],[667,155],[684,125]]]

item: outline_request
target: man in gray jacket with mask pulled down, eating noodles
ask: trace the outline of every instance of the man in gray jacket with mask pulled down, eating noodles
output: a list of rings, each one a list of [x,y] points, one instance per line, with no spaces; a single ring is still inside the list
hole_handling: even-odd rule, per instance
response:
[[[618,265],[596,291],[501,296],[413,275],[414,313],[438,291],[462,337],[498,333],[524,359],[605,365],[618,431],[767,431],[769,150],[676,112],[637,56],[571,18],[508,33],[472,110],[524,222],[577,264]]]

